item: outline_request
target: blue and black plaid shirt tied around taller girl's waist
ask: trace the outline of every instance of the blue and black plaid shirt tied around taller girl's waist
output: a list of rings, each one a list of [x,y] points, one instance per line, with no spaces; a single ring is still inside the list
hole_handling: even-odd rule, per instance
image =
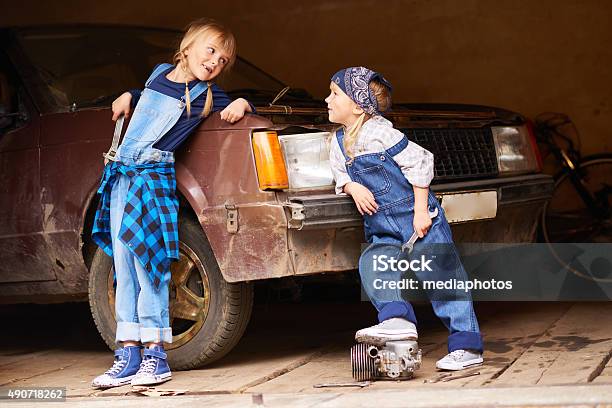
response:
[[[111,162],[104,168],[92,236],[109,256],[113,256],[110,199],[119,174],[130,179],[119,239],[138,258],[159,289],[161,283],[170,280],[170,264],[179,258],[174,164],[127,166]]]

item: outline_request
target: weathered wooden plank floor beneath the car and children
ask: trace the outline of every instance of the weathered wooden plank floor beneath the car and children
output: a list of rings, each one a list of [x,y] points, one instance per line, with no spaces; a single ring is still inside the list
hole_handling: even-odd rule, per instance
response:
[[[517,387],[558,384],[612,384],[612,302],[480,303],[485,364],[480,374],[448,382],[436,379],[435,361],[446,354],[447,333],[427,305],[419,324],[423,367],[410,381],[377,381],[363,389],[313,388],[326,382],[350,382],[349,349],[354,331],[373,322],[366,303],[289,304],[256,310],[237,348],[219,363],[174,372],[167,389],[188,393],[363,393],[427,388]],[[83,316],[86,316],[83,313]],[[68,334],[40,338],[25,333],[0,339],[0,386],[67,386],[70,396],[124,395],[130,387],[107,391],[89,388],[108,368],[112,354],[93,325],[77,322]],[[16,318],[15,318],[16,319]],[[11,323],[10,319],[8,323]],[[60,333],[62,328],[59,328]],[[85,330],[78,343],[75,330]],[[9,340],[7,340],[9,339]]]

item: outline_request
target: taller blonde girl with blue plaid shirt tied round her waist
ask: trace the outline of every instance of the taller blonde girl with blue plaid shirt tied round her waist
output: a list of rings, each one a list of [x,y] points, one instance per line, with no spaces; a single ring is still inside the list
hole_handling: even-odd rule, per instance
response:
[[[135,109],[114,161],[104,168],[92,235],[113,257],[116,341],[123,347],[94,387],[171,378],[163,342],[172,342],[168,282],[170,264],[179,257],[173,151],[211,112],[222,110],[221,118],[233,123],[253,110],[242,98],[230,101],[211,82],[235,55],[234,36],[225,27],[194,21],[175,65],[158,65],[142,92],[126,92],[113,102],[113,120]]]

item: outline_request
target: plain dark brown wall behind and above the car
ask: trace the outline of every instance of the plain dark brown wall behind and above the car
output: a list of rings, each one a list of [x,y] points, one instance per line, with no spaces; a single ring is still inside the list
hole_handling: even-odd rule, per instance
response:
[[[2,3],[2,25],[182,28],[210,16],[233,29],[245,58],[317,96],[338,68],[366,65],[394,84],[396,100],[561,111],[581,130],[584,153],[611,150],[612,2],[604,0]]]

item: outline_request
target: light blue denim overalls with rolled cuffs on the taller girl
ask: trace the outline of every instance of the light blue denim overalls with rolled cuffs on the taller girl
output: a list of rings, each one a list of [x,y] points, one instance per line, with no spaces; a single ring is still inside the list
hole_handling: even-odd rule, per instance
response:
[[[172,152],[155,149],[153,145],[176,124],[185,103],[148,88],[151,81],[169,67],[170,64],[161,64],[153,71],[134,109],[116,155],[117,161],[126,166],[174,163]],[[192,100],[206,89],[206,83],[196,84],[190,90]],[[110,223],[117,279],[116,341],[171,343],[168,282],[163,282],[159,290],[156,290],[149,273],[119,239],[129,187],[130,178],[119,174],[111,192]]]

